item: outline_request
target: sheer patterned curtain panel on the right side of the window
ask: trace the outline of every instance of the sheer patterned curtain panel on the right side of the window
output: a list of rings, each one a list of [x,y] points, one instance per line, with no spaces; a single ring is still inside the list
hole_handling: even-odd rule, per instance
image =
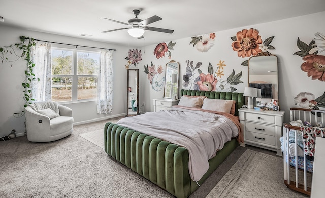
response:
[[[97,112],[111,113],[113,109],[113,52],[101,50],[98,74]]]

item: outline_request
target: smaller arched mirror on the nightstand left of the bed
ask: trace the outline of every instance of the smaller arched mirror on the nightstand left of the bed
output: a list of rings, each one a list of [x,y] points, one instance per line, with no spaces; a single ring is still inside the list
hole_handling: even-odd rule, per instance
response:
[[[178,100],[179,63],[170,61],[166,64],[164,98]]]

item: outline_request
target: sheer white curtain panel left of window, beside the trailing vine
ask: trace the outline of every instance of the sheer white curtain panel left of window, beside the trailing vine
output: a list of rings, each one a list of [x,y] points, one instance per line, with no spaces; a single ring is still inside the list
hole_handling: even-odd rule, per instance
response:
[[[40,81],[32,82],[32,97],[35,101],[51,100],[51,44],[36,43],[32,51],[34,74]]]

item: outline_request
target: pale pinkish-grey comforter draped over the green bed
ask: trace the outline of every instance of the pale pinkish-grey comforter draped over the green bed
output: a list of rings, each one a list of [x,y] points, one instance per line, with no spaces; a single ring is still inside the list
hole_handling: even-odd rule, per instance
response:
[[[175,107],[126,117],[117,124],[187,148],[193,181],[202,178],[209,169],[208,160],[239,133],[235,123],[223,115]]]

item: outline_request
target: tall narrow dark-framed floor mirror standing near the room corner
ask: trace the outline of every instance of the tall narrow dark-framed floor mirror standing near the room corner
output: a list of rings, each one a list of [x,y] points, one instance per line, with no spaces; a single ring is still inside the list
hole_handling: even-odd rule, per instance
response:
[[[139,114],[139,69],[127,69],[126,116]]]

